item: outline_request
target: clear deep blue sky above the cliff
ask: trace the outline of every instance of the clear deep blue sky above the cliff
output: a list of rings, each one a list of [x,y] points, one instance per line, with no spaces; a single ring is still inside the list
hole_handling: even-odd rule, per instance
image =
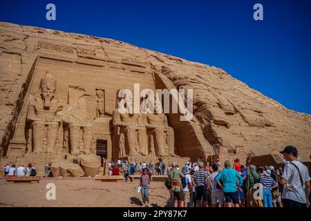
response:
[[[56,21],[46,20],[55,3]],[[263,4],[263,21],[253,6]],[[294,111],[311,114],[309,0],[1,0],[0,21],[109,37],[223,68]]]

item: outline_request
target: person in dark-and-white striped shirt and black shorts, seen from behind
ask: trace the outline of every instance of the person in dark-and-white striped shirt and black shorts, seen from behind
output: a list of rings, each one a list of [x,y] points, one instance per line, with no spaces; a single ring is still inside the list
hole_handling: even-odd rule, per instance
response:
[[[192,177],[192,183],[196,188],[196,200],[198,207],[207,207],[207,200],[208,200],[208,175],[207,172],[204,170],[204,163],[199,163],[199,170],[194,171],[194,175]],[[202,201],[202,202],[201,202]]]

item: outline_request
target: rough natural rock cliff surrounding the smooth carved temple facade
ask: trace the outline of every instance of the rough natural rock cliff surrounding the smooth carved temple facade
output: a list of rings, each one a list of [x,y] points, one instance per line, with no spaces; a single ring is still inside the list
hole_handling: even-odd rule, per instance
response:
[[[53,46],[41,42],[53,42]],[[66,45],[68,47],[62,47]],[[288,110],[278,102],[220,68],[138,48],[113,39],[0,23],[0,138],[3,149],[15,131],[23,97],[32,76],[28,75],[39,49],[77,48],[79,56],[150,68],[155,76],[177,89],[194,89],[194,115],[199,130],[211,146],[220,144],[228,155],[278,154],[294,145],[308,161],[311,154],[311,116]],[[91,48],[83,50],[79,48]],[[113,71],[113,68],[111,68]],[[115,80],[126,80],[115,76]],[[143,80],[143,77],[142,77]],[[185,135],[186,136],[186,135]],[[183,138],[178,138],[183,139]],[[216,150],[217,148],[215,148]],[[217,152],[217,150],[216,150]]]

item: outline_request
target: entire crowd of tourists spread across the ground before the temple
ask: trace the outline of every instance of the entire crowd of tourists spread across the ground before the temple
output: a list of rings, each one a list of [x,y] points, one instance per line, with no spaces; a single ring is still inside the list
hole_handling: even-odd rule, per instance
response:
[[[167,167],[162,160],[154,164],[127,160],[109,162],[109,175],[124,175],[124,180],[133,182],[133,175],[140,175],[138,192],[142,202],[149,206],[151,175],[167,175],[165,186],[174,207],[306,207],[310,206],[310,175],[298,157],[294,146],[281,151],[283,166],[242,165],[237,158],[226,160],[224,168],[220,160],[211,166],[201,158],[190,160],[180,168],[176,162]],[[311,157],[310,157],[311,158]],[[45,175],[50,165],[44,167]],[[5,166],[5,177],[36,175],[32,164],[28,167],[15,164]]]

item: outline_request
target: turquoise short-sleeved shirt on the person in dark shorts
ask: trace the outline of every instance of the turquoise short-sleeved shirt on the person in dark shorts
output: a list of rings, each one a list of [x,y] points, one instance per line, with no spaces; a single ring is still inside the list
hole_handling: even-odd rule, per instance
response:
[[[223,181],[223,192],[224,193],[234,193],[236,192],[236,178],[238,178],[238,183],[243,183],[243,178],[241,177],[238,172],[232,168],[225,168],[223,171],[218,173],[215,178],[215,181],[218,182],[219,180]]]

